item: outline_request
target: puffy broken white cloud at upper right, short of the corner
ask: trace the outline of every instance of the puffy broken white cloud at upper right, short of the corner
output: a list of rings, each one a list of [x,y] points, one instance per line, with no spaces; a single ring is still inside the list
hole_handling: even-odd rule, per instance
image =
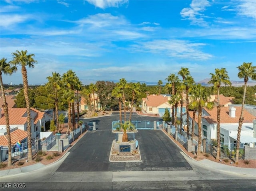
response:
[[[211,5],[208,0],[192,0],[190,7],[182,9],[180,15],[190,20],[192,25],[206,26],[207,22],[204,20],[202,12],[209,6]]]

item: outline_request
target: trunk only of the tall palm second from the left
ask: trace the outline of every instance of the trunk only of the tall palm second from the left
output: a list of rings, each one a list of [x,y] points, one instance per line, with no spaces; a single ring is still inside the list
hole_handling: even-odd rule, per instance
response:
[[[23,88],[24,88],[24,96],[26,100],[26,110],[27,110],[27,132],[28,132],[28,161],[33,160],[32,156],[32,145],[31,145],[31,122],[30,122],[30,100],[28,96],[28,75],[26,67],[22,65],[21,68],[22,80],[23,80]]]

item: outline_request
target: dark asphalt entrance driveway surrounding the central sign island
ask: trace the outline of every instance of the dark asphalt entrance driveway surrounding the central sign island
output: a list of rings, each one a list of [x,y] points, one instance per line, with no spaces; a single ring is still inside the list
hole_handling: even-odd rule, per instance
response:
[[[117,116],[86,119],[96,122],[96,131],[87,132],[71,149],[57,171],[166,171],[192,170],[180,154],[180,149],[161,130],[138,130],[141,162],[109,161],[110,149],[115,134],[112,133],[112,120]],[[161,118],[133,116],[132,120],[158,121]]]

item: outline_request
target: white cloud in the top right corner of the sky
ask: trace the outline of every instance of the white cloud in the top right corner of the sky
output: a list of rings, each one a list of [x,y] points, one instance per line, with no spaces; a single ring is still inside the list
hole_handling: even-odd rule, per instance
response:
[[[238,15],[250,17],[256,20],[256,0],[240,0],[237,6]]]

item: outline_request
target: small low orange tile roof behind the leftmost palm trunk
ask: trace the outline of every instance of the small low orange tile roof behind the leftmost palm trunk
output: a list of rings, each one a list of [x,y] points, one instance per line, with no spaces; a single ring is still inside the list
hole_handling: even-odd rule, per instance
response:
[[[24,140],[28,136],[28,132],[16,129],[11,132],[11,142],[12,145],[16,144],[18,141]],[[6,135],[0,136],[0,145],[8,146],[8,140]]]

